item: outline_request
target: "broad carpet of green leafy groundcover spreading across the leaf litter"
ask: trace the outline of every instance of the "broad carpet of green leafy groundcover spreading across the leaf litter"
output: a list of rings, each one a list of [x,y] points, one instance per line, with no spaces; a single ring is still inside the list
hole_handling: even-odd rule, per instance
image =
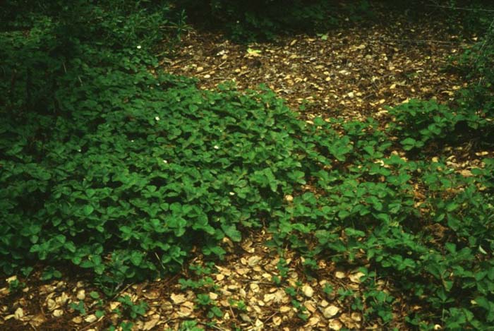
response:
[[[76,57],[60,59],[39,36],[1,40],[16,45],[0,51],[5,274],[67,263],[92,270],[110,293],[177,270],[194,248],[222,257],[224,236],[267,227],[308,267],[316,258],[365,265],[365,290],[353,296],[366,320],[392,321],[397,299],[376,284],[386,279],[423,307],[410,325],[493,325],[494,160],[464,176],[417,156],[457,137],[464,115],[414,101],[386,131],[372,119],[307,124],[265,88],[203,91],[153,74],[141,45],[76,42]],[[31,62],[19,65],[21,54]],[[27,71],[13,84],[16,70]],[[395,152],[400,144],[416,158]]]

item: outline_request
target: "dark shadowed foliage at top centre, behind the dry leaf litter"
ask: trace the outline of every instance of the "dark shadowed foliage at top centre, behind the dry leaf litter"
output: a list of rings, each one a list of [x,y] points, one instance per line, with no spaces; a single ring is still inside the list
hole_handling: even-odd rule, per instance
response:
[[[187,8],[200,24],[224,30],[236,42],[272,40],[293,31],[322,32],[335,28],[342,16],[361,20],[373,14],[367,0],[187,0],[177,1],[177,6]]]

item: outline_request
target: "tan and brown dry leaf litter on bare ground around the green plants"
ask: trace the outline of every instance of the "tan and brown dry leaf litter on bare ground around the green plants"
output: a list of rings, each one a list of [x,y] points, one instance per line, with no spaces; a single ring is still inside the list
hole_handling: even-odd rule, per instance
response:
[[[176,56],[163,61],[162,68],[193,76],[204,89],[231,80],[239,90],[265,83],[306,121],[315,116],[373,116],[385,123],[385,106],[412,98],[452,100],[466,82],[445,70],[448,56],[462,52],[462,47],[475,41],[474,36],[451,35],[448,23],[434,16],[411,22],[401,13],[377,15],[372,24],[330,30],[325,35],[279,37],[276,42],[248,45],[191,30]],[[196,254],[190,265],[202,265],[204,270],[184,268],[173,277],[122,288],[119,296],[127,294],[133,302],[145,301],[149,306],[133,321],[133,330],[197,330],[184,327],[186,320],[195,320],[205,330],[406,330],[404,316],[422,309],[407,300],[406,294],[396,293],[392,284],[377,280],[381,289],[402,304],[397,305],[390,325],[364,320],[338,294],[339,289],[359,291],[359,266],[320,260],[319,269],[308,274],[299,255],[289,249],[268,248],[265,242],[269,239],[267,231],[246,234],[240,244],[225,241],[227,257],[214,265],[207,267]],[[281,258],[286,270],[279,267]],[[40,272],[34,272],[21,279],[26,287],[16,294],[9,294],[8,287],[0,288],[0,329],[106,330],[119,325],[119,315],[109,312],[122,309],[123,303],[95,299],[90,293],[97,288],[85,275],[64,271],[68,277],[54,282],[42,282]],[[303,318],[291,296],[273,282],[274,277],[286,279],[293,287],[300,282]],[[185,288],[179,279],[193,282]],[[215,315],[211,306],[195,308],[198,293],[217,302],[222,315]],[[67,305],[70,301],[83,301],[90,308],[81,315]],[[100,317],[97,310],[107,313]],[[209,324],[212,320],[214,325]]]

